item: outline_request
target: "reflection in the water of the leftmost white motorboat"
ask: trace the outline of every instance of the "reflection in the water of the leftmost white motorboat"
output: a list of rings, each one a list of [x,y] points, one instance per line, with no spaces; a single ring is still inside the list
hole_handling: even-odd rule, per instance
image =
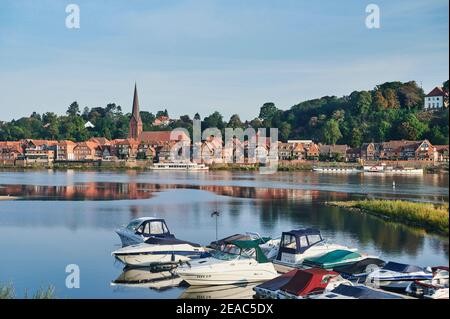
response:
[[[172,271],[154,272],[148,268],[125,269],[111,286],[163,290],[177,287],[182,279]]]

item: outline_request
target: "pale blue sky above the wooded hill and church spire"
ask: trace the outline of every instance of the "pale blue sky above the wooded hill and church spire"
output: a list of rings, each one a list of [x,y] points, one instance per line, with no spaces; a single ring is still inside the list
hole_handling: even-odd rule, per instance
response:
[[[76,3],[81,28],[65,27]],[[381,9],[367,29],[365,8]],[[447,0],[1,0],[0,120],[120,104],[228,119],[386,81],[448,79]]]

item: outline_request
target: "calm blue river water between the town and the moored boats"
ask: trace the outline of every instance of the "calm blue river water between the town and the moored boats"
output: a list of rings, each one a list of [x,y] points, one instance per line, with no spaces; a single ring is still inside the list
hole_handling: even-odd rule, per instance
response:
[[[13,283],[18,296],[50,284],[58,298],[250,296],[251,286],[164,287],[176,284],[173,278],[160,286],[111,284],[167,275],[123,273],[111,256],[120,246],[115,228],[135,217],[157,216],[178,238],[208,244],[216,237],[215,210],[221,213],[219,237],[246,231],[276,237],[283,230],[316,227],[331,241],[385,260],[448,265],[447,237],[323,204],[365,197],[448,202],[448,191],[447,174],[0,171],[0,196],[23,197],[0,201],[0,283]],[[68,264],[80,267],[79,289],[66,288]]]

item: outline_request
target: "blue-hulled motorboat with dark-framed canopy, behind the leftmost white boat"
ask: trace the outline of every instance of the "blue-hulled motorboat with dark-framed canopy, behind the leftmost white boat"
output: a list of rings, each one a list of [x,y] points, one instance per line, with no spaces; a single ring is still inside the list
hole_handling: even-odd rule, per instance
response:
[[[156,217],[140,217],[133,219],[126,226],[116,230],[122,246],[143,243],[150,237],[173,238],[164,219]]]

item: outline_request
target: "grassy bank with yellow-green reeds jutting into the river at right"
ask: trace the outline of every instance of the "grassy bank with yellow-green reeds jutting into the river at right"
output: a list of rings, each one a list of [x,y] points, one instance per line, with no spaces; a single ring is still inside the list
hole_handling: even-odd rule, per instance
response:
[[[359,200],[328,202],[332,206],[357,209],[379,217],[448,235],[448,204],[415,203],[401,200]]]

